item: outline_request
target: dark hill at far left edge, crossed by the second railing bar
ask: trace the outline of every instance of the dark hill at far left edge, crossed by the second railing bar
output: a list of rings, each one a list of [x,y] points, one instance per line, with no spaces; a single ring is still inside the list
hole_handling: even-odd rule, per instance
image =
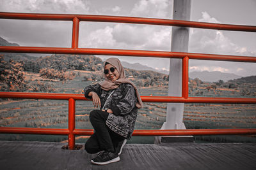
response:
[[[10,43],[0,37],[0,45],[1,46],[19,46],[17,43]],[[37,57],[33,57],[31,55],[27,55],[26,53],[0,53],[0,55],[4,55],[4,60],[8,61],[10,59],[13,60],[35,60]]]

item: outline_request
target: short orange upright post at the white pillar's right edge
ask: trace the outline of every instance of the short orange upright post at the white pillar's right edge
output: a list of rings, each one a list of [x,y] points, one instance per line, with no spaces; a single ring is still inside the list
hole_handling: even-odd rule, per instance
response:
[[[188,99],[188,56],[182,59],[182,97]]]

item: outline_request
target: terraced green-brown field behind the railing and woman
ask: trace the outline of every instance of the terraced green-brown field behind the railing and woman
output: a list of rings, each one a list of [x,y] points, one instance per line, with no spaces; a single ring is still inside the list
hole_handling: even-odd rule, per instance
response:
[[[56,93],[82,94],[92,81],[83,81],[92,72],[74,71],[74,80],[61,82],[42,79],[35,73],[26,73],[29,83],[50,85]],[[140,87],[141,96],[167,96],[168,87]],[[198,91],[200,93],[198,93]],[[189,96],[239,97],[239,90],[207,90],[198,87]],[[250,97],[250,96],[245,96]],[[135,129],[161,129],[166,118],[166,103],[144,103],[139,110]],[[76,128],[92,129],[88,115],[92,101],[76,101]],[[0,102],[1,127],[68,127],[68,101],[3,99]],[[255,104],[185,104],[183,122],[187,129],[256,128]],[[84,143],[88,136],[77,136],[76,143]],[[195,136],[196,142],[256,142],[255,136]],[[67,142],[67,136],[0,134],[0,140]],[[154,143],[154,137],[133,137],[129,143]]]

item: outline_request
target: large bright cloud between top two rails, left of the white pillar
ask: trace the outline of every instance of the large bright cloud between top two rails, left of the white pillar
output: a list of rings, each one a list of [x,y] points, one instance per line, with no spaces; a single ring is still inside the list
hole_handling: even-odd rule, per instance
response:
[[[131,50],[170,50],[170,28],[155,25],[115,24],[83,36],[81,46]]]

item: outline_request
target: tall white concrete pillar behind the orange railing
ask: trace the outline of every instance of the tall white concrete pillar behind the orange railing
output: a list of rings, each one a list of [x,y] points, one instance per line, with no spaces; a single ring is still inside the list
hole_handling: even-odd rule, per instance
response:
[[[190,20],[191,0],[173,0],[173,20]],[[188,52],[189,28],[172,27],[172,52]],[[182,96],[182,59],[170,59],[168,96]],[[168,103],[161,129],[186,129],[184,103]]]

